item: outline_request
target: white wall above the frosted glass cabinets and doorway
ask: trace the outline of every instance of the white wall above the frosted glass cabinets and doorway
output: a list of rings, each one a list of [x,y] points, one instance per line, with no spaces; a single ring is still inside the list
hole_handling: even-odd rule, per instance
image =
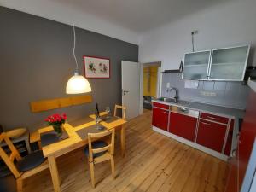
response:
[[[162,61],[163,69],[177,69],[183,54],[192,49],[190,34],[195,29],[199,30],[195,50],[239,44],[255,47],[256,0],[230,0],[144,33],[139,43],[139,61]],[[256,65],[254,50],[251,53]]]

